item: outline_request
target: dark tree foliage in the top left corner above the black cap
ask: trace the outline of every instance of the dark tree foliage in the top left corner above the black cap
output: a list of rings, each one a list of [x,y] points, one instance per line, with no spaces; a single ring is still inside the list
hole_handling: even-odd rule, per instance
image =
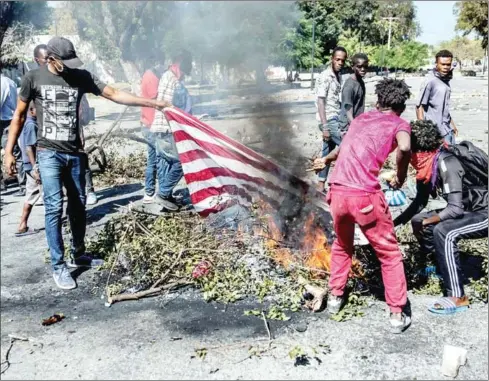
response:
[[[46,1],[0,2],[0,64],[8,66],[23,59],[23,46],[48,20]]]

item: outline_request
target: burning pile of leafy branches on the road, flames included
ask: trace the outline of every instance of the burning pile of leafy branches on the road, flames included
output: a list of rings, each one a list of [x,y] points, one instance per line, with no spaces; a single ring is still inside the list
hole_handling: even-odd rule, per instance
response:
[[[322,304],[326,294],[327,229],[314,212],[301,215],[281,221],[266,205],[258,204],[236,225],[226,220],[226,226],[217,226],[215,218],[203,219],[192,212],[153,216],[132,210],[110,220],[89,250],[106,261],[106,277],[101,279],[109,304],[192,286],[207,301],[256,298],[269,304],[267,318],[286,320],[285,311],[297,311],[301,304],[319,309],[317,303]],[[408,227],[398,236],[410,289],[440,293],[439,280],[426,273],[434,258],[420,255]],[[482,241],[462,246],[470,245],[466,249],[473,251],[475,244],[487,253],[487,240]],[[487,262],[485,266],[487,271]],[[356,248],[351,279],[355,308],[358,295],[383,293],[380,266],[368,246]],[[478,300],[487,300],[485,281],[472,282]],[[314,297],[312,304],[304,300],[307,293]],[[358,316],[346,311],[347,318]]]

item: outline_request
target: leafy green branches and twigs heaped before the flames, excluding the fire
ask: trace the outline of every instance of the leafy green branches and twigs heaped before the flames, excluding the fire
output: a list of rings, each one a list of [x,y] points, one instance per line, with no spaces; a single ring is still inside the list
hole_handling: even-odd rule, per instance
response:
[[[207,301],[251,296],[270,302],[268,317],[284,320],[283,311],[300,308],[299,279],[311,271],[300,263],[281,266],[265,242],[259,235],[213,230],[192,213],[131,211],[109,221],[89,249],[106,261],[101,279],[109,304],[193,286]]]

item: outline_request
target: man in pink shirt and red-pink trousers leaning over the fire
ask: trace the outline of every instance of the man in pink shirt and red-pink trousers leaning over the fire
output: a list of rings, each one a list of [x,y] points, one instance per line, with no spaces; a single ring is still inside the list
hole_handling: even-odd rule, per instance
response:
[[[328,193],[336,233],[331,254],[328,311],[337,313],[342,307],[354,251],[354,229],[358,224],[381,263],[392,331],[401,333],[411,323],[410,314],[405,311],[406,277],[378,176],[385,160],[397,147],[397,176],[392,186],[398,188],[406,179],[411,127],[400,115],[406,108],[410,91],[404,81],[384,79],[375,86],[375,93],[377,109],[355,118],[341,146],[314,162],[314,168],[321,170],[336,160]]]

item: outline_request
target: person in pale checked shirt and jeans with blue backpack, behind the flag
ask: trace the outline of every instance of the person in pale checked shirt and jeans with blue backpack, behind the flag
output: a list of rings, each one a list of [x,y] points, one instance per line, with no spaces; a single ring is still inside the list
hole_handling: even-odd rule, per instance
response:
[[[182,50],[177,54],[167,71],[162,75],[158,85],[159,101],[171,103],[173,106],[191,111],[190,96],[183,85],[185,75],[192,71],[192,56]],[[182,163],[179,160],[175,140],[170,126],[162,112],[157,112],[151,126],[155,134],[156,152],[158,154],[158,178],[164,182],[159,184],[156,201],[164,209],[175,211],[179,209],[177,200],[173,197],[173,189],[183,176]]]

